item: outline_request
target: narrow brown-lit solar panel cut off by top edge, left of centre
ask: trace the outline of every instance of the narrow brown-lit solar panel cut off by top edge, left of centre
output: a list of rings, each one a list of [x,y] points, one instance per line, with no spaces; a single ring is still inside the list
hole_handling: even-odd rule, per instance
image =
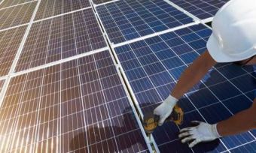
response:
[[[41,20],[47,17],[59,15],[61,13],[67,13],[73,10],[79,10],[84,7],[90,7],[89,0],[46,0],[41,1],[38,12],[36,13],[35,20]]]

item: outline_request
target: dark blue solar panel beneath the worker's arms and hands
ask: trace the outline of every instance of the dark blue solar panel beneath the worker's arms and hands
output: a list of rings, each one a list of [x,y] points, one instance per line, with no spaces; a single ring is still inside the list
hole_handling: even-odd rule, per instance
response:
[[[115,48],[143,113],[153,111],[169,95],[184,68],[206,49],[210,34],[211,30],[205,26],[190,26]],[[231,69],[233,74],[227,73]],[[182,127],[192,120],[212,124],[250,107],[253,99],[246,94],[256,88],[255,78],[251,72],[234,65],[213,68],[178,102],[185,112]],[[252,133],[245,132],[197,145],[191,150],[178,139],[179,128],[175,124],[164,124],[154,132],[160,151],[168,152],[172,148],[178,152],[219,152],[255,141]]]

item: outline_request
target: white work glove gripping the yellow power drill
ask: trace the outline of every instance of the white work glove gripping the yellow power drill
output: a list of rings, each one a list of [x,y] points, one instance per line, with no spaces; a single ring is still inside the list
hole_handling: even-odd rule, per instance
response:
[[[162,104],[160,104],[157,108],[154,109],[154,114],[159,115],[160,119],[158,121],[158,125],[161,126],[166,118],[172,113],[172,109],[177,103],[177,99],[169,95]]]

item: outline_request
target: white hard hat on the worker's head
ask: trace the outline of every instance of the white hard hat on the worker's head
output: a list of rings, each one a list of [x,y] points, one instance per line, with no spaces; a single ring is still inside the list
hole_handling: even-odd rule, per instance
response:
[[[236,62],[256,54],[256,0],[231,0],[212,20],[207,49],[216,62]]]

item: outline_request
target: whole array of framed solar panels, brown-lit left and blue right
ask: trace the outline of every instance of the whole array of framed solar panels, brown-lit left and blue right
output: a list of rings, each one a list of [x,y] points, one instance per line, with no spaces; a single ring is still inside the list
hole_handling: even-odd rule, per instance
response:
[[[225,2],[0,1],[0,151],[256,151],[256,130],[194,148],[178,139],[192,120],[213,124],[250,107],[254,66],[215,65],[178,101],[184,124],[163,124],[154,139],[139,118],[206,50],[212,30],[190,13],[203,22]]]

